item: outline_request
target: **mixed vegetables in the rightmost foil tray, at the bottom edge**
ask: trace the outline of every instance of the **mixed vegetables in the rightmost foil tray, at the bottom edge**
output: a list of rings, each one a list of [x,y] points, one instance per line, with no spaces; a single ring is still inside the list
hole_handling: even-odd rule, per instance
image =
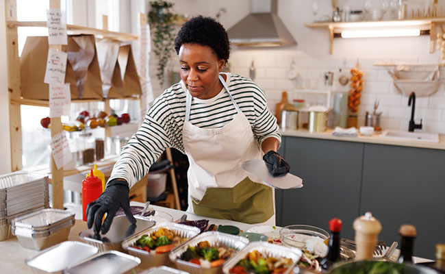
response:
[[[229,273],[281,274],[285,273],[292,266],[292,263],[290,258],[264,258],[261,253],[255,250],[247,253],[244,259],[240,260],[236,266],[229,270]]]

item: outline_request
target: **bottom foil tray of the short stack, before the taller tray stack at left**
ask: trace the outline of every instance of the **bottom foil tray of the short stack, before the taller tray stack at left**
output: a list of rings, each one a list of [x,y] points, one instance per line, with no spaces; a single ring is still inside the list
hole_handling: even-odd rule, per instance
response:
[[[40,234],[34,234],[29,236],[28,232],[23,232],[27,229],[16,229],[15,235],[18,242],[22,247],[27,249],[42,250],[53,245],[57,245],[60,242],[68,239],[71,227],[73,227],[75,220],[69,220],[66,223],[62,223],[55,229],[50,229],[48,232],[42,232]],[[28,234],[27,234],[28,233]]]

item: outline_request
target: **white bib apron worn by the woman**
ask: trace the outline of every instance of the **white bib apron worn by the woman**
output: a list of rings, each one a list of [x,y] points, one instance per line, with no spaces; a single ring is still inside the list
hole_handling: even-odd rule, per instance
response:
[[[195,203],[201,201],[207,188],[233,188],[246,177],[253,182],[263,184],[261,179],[247,173],[238,165],[246,160],[262,159],[263,153],[253,137],[249,120],[233,100],[224,78],[220,75],[219,79],[238,113],[232,121],[217,129],[202,129],[190,123],[192,96],[181,82],[181,86],[186,90],[186,119],[182,138],[184,150],[190,162],[187,173],[188,212],[194,212],[193,201]],[[275,192],[273,189],[271,192],[273,214],[269,219],[258,224],[275,225]],[[212,201],[212,203],[215,202]],[[224,205],[221,206],[224,208]]]

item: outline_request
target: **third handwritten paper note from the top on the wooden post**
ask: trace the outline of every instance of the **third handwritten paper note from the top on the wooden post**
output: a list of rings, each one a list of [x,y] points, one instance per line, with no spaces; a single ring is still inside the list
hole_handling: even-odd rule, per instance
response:
[[[49,117],[69,115],[71,112],[70,84],[49,84]]]

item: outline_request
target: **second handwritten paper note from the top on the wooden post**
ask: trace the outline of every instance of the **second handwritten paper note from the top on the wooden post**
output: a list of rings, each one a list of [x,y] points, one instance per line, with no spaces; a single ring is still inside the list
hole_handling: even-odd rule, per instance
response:
[[[47,71],[44,73],[43,82],[47,84],[65,83],[66,58],[68,58],[68,53],[57,49],[48,50]]]

